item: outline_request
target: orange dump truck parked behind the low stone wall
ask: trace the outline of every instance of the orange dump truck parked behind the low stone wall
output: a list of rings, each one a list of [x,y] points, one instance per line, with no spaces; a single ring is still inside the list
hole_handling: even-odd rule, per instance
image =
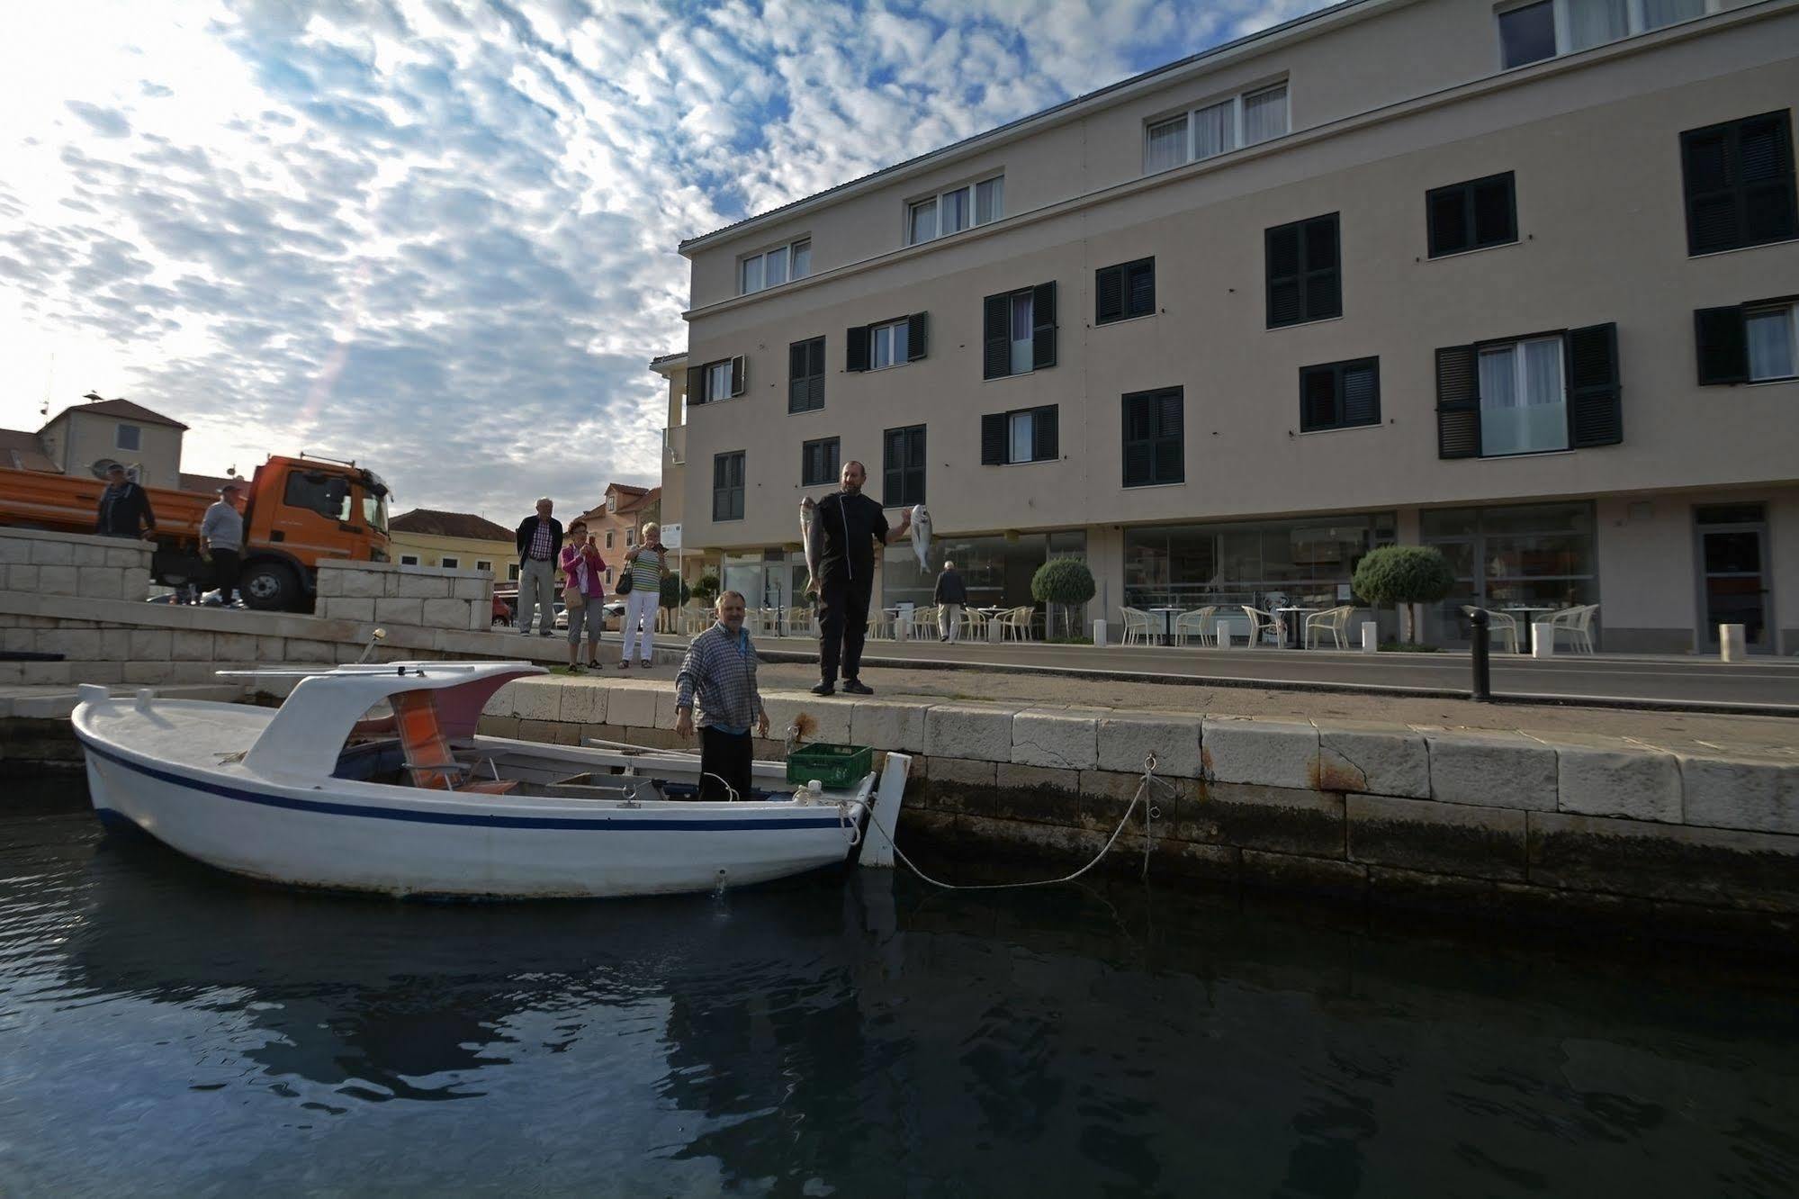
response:
[[[0,524],[92,533],[101,479],[0,470]],[[205,583],[200,518],[216,495],[146,488],[157,517],[158,583]],[[387,484],[372,470],[327,457],[277,457],[243,479],[243,572],[252,609],[304,612],[322,558],[387,562]]]

